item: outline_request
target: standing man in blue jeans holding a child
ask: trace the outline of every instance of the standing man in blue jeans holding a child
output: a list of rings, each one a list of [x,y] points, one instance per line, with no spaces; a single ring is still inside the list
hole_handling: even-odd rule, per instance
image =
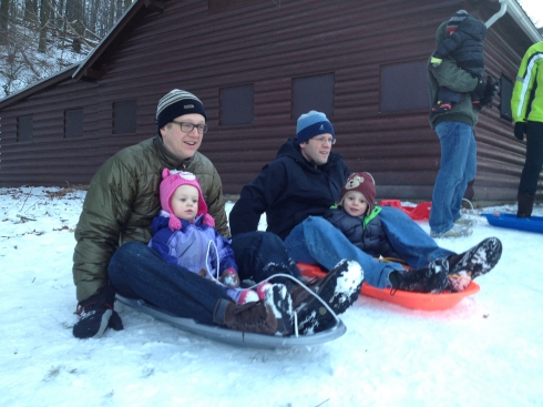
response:
[[[438,47],[448,38],[448,22],[437,31]],[[447,55],[440,63],[428,64],[428,87],[430,102],[438,101],[439,87],[460,93],[458,103],[447,111],[431,111],[430,125],[438,133],[441,144],[441,167],[436,179],[430,211],[430,236],[458,237],[472,233],[469,224],[462,224],[460,208],[468,183],[475,177],[477,143],[473,128],[478,112],[492,104],[496,85],[489,77],[484,82],[460,69],[452,57]],[[472,103],[471,92],[478,94],[479,103]],[[464,221],[465,222],[465,221]]]

